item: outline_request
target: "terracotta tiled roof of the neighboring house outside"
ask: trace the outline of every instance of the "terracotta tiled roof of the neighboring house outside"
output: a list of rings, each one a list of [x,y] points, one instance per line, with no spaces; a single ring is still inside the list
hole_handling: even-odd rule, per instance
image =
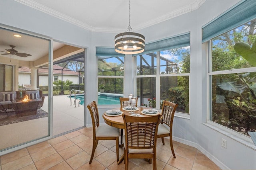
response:
[[[53,65],[53,74],[61,74],[63,70],[63,74],[66,75],[79,75],[78,72],[69,70],[68,68],[63,68],[61,66],[58,65]],[[31,72],[31,69],[29,67],[26,66],[22,66],[19,68],[19,72]],[[38,69],[38,73],[39,74],[48,74],[48,67],[44,67],[44,68],[39,68]]]

